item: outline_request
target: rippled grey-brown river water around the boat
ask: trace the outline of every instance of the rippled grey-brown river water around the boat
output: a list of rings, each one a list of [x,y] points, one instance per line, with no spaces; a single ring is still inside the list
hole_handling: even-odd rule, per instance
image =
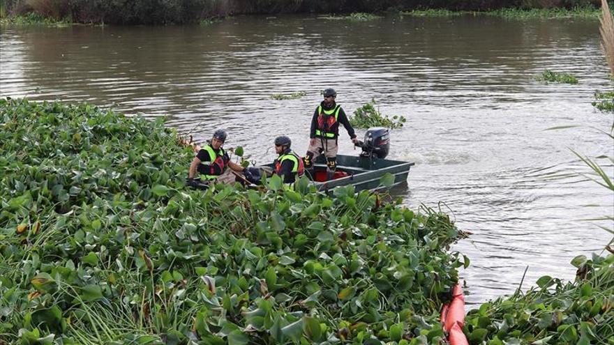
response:
[[[232,17],[210,26],[3,27],[0,94],[87,101],[126,114],[167,116],[207,139],[230,132],[257,162],[289,135],[304,153],[320,91],[348,114],[371,98],[407,118],[389,158],[416,162],[393,193],[450,213],[472,236],[452,250],[470,303],[512,293],[541,275],[573,279],[569,261],[611,235],[587,219],[614,216],[613,194],[576,175],[585,155],[614,155],[612,116],[590,104],[606,90],[597,20],[315,16]],[[577,85],[542,84],[546,69]],[[304,91],[298,100],[271,100]],[[581,125],[567,130],[547,130]],[[591,128],[592,127],[592,128]],[[357,130],[359,136],[364,130]],[[340,153],[358,154],[345,132]],[[614,175],[612,165],[606,171]],[[186,167],[187,169],[187,167]]]

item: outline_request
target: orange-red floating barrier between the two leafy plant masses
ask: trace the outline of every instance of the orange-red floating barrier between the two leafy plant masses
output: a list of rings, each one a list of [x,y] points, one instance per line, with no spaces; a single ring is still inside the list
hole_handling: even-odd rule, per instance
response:
[[[442,307],[441,322],[444,330],[448,333],[451,345],[468,345],[467,337],[463,333],[465,325],[465,296],[460,284],[452,289],[452,300]]]

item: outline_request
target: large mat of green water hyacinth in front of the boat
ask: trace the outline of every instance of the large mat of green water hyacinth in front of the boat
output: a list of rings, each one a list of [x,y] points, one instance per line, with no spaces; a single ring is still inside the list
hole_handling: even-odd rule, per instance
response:
[[[0,343],[438,344],[449,217],[306,180],[187,189],[163,121],[0,100]]]

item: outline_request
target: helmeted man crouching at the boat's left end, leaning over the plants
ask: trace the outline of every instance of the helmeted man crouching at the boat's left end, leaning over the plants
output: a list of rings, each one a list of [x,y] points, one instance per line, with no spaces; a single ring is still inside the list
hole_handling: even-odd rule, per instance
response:
[[[242,178],[238,173],[244,171],[245,168],[231,162],[230,157],[222,148],[226,137],[225,130],[216,130],[211,141],[208,141],[207,145],[198,151],[196,157],[192,160],[192,164],[190,164],[188,185],[200,187],[202,181],[200,178],[195,178],[197,172],[200,173],[205,182],[230,184],[237,181],[237,178],[239,180]]]

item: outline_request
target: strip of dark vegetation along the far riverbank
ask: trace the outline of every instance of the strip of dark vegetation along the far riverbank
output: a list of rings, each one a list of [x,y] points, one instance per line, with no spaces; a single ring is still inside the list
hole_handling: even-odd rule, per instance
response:
[[[419,16],[484,13],[510,18],[597,17],[599,2],[594,0],[6,0],[2,2],[2,10],[2,13],[8,17],[36,13],[44,18],[87,24],[184,24],[227,15],[276,13],[333,13],[334,17],[352,20],[370,20],[371,13]],[[339,16],[339,14],[349,15]]]

